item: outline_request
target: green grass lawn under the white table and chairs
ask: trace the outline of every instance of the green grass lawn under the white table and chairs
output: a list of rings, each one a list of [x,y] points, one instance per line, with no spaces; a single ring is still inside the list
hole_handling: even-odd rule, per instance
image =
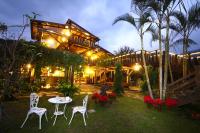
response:
[[[80,105],[83,96],[76,96],[74,102],[68,105],[67,117],[58,117],[55,126],[50,117],[54,111],[54,105],[48,103],[47,97],[41,97],[39,106],[48,109],[49,122],[42,121],[42,130],[38,130],[38,117],[32,115],[24,128],[20,125],[25,119],[29,108],[29,99],[24,98],[15,102],[7,102],[5,109],[9,115],[7,120],[0,123],[2,133],[199,133],[200,122],[194,121],[182,115],[176,110],[148,109],[146,105],[136,99],[120,97],[113,104],[101,107],[89,99],[88,109],[95,109],[95,113],[89,113],[86,119],[87,126],[83,124],[80,114],[75,115],[71,126],[68,126],[71,118],[71,107]]]

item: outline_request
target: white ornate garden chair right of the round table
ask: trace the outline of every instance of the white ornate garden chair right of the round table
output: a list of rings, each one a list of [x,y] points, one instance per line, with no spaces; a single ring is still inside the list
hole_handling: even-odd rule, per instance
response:
[[[86,126],[86,122],[85,122],[85,114],[87,115],[88,117],[88,114],[87,114],[87,102],[88,102],[88,95],[84,97],[83,99],[83,106],[76,106],[76,107],[73,107],[73,111],[72,111],[72,117],[70,119],[70,122],[69,122],[69,125],[71,124],[72,122],[72,119],[74,117],[74,114],[79,112],[83,115],[83,120],[84,120],[84,125]]]

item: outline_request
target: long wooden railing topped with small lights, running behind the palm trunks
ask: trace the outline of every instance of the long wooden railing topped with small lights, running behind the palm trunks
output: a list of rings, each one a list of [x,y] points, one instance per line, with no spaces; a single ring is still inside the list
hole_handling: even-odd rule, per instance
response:
[[[197,54],[199,54],[200,52],[196,52]],[[200,63],[200,56],[195,56],[197,55],[195,53],[191,53],[188,56],[184,57],[187,58],[188,60],[188,65],[189,65],[189,72],[193,71],[194,65],[198,65]],[[155,51],[144,51],[144,55],[145,55],[145,60],[146,60],[146,64],[147,65],[151,65],[154,68],[158,68],[159,66],[159,50],[155,50]],[[163,66],[164,66],[164,60],[165,60],[165,51],[163,51]],[[143,61],[142,61],[142,51],[135,51],[132,53],[128,53],[128,54],[124,54],[124,55],[119,55],[119,56],[114,56],[111,58],[107,58],[104,60],[101,60],[101,62],[106,62],[107,67],[113,67],[116,63],[120,63],[122,64],[122,66],[127,66],[127,67],[131,67],[133,66],[135,63],[140,63],[141,65],[143,65]],[[171,70],[174,76],[174,79],[179,79],[180,76],[182,76],[182,63],[183,63],[183,56],[182,55],[178,55],[175,53],[169,53],[169,62],[170,62],[170,66],[171,66]]]

